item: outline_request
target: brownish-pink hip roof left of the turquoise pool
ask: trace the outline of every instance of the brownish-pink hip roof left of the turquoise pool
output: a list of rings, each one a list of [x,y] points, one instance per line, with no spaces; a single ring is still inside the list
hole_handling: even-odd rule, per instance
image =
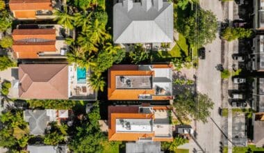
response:
[[[68,66],[66,64],[19,65],[19,97],[68,99]]]

